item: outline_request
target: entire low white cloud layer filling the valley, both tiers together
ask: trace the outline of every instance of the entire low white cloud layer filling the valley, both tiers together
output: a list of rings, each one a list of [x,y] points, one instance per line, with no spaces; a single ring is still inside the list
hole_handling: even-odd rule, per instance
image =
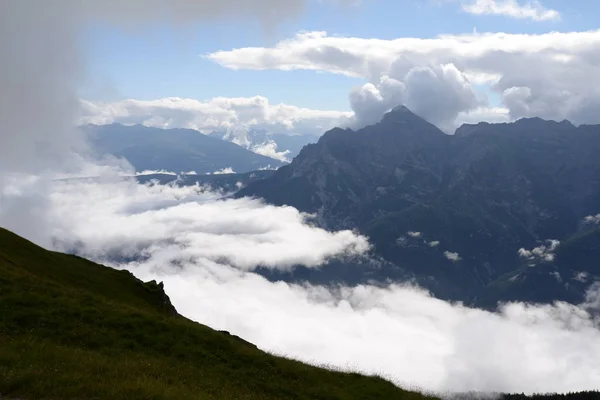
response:
[[[428,390],[597,388],[600,330],[584,306],[510,304],[493,314],[402,284],[271,283],[252,269],[317,267],[368,244],[349,231],[314,228],[295,209],[220,200],[200,187],[110,176],[21,182],[3,195],[50,194],[47,244],[162,280],[181,313],[265,350]]]

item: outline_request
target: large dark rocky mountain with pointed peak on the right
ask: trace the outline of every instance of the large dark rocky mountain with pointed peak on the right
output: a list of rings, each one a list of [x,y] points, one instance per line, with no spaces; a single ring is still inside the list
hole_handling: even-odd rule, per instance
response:
[[[586,216],[600,213],[598,150],[597,126],[532,118],[465,125],[448,136],[397,107],[378,124],[325,133],[238,196],[317,213],[332,229],[356,227],[376,254],[443,298],[578,301],[581,288],[568,283],[582,272],[579,265],[562,267],[573,271],[558,282],[545,268],[550,256],[532,268],[519,250],[567,240]],[[543,276],[535,284],[548,288],[543,281],[552,280],[557,287],[530,295],[513,290],[515,279],[503,284],[502,295],[483,296],[523,267]],[[593,281],[594,271],[583,272]],[[394,278],[387,270],[377,274]]]

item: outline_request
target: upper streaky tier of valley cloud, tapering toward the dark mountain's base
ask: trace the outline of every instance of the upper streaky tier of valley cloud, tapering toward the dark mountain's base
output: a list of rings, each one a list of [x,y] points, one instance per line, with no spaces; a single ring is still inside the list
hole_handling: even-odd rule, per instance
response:
[[[199,186],[86,180],[55,182],[53,190],[54,238],[63,243],[81,240],[80,251],[95,258],[131,257],[162,248],[185,262],[287,269],[296,264],[316,267],[329,257],[369,249],[364,237],[312,227],[310,217],[294,208],[250,199],[218,200],[217,193]],[[76,206],[88,196],[104,206]],[[79,218],[87,223],[75,224]],[[168,259],[163,261],[169,265]]]

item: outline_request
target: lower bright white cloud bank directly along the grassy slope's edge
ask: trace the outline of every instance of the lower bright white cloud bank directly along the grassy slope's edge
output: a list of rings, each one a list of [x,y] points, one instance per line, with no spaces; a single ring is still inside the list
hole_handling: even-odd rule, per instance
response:
[[[597,387],[600,333],[589,314],[566,304],[511,304],[491,314],[401,285],[329,291],[194,266],[145,276],[163,279],[185,315],[310,363],[436,391]]]

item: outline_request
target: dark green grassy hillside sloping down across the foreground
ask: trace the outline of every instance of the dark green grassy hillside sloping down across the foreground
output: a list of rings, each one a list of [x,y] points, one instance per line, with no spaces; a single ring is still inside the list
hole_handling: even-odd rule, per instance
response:
[[[215,305],[218,307],[218,305]],[[0,394],[19,399],[425,399],[275,357],[162,287],[0,229]]]

